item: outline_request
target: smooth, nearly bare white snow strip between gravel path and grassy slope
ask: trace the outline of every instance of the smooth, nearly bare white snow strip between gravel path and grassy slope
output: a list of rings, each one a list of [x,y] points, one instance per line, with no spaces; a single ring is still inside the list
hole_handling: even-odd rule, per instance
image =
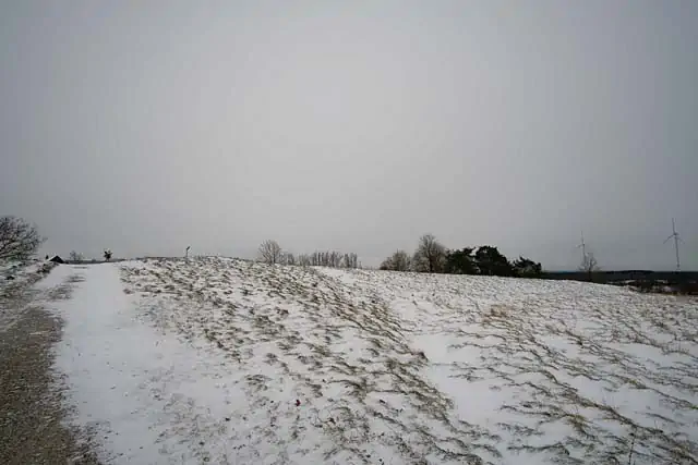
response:
[[[231,427],[230,404],[244,397],[234,374],[222,359],[200,356],[193,345],[141,321],[118,266],[70,268],[72,297],[53,304],[65,322],[55,368],[68,388],[71,423],[94,435],[100,460],[226,460],[226,442],[217,439]]]

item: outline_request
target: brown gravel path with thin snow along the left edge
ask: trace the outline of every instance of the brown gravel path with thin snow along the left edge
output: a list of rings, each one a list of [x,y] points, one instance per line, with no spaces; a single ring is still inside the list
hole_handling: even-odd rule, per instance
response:
[[[51,372],[61,321],[40,305],[68,298],[70,283],[39,291],[33,281],[0,284],[0,464],[97,464],[85,435],[62,423]]]

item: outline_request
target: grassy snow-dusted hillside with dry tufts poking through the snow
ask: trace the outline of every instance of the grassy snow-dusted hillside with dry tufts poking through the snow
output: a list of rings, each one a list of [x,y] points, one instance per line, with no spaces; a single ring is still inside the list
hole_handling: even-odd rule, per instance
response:
[[[696,299],[221,258],[123,280],[239,374],[231,463],[627,463],[633,433],[636,464],[698,463]]]

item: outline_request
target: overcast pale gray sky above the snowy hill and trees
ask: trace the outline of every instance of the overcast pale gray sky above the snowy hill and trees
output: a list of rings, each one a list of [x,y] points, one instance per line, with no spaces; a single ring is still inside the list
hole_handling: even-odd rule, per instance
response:
[[[431,232],[698,269],[698,2],[0,1],[0,215],[46,252]]]

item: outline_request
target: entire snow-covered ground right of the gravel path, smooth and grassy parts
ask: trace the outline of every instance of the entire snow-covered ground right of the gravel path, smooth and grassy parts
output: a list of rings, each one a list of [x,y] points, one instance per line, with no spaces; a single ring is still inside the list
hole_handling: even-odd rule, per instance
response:
[[[698,299],[197,258],[61,266],[113,463],[698,463]]]

